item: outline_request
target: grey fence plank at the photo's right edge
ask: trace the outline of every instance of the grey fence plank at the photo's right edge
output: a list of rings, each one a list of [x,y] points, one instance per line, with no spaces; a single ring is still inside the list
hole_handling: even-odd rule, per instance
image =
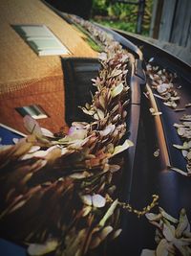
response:
[[[191,1],[179,0],[170,41],[186,46],[191,22]]]

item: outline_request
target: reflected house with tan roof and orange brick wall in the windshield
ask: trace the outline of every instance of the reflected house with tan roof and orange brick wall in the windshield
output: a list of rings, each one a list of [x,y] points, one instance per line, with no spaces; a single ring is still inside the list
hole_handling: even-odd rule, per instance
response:
[[[43,111],[37,113],[41,127],[53,132],[66,127],[65,73],[60,57],[96,58],[96,51],[86,43],[84,35],[39,0],[2,0],[0,12],[0,123],[26,132],[22,116],[25,107]],[[68,49],[66,54],[53,55],[52,49],[51,56],[39,56],[32,44],[36,38],[30,41],[23,31],[17,33],[29,25],[46,26],[48,34],[56,36],[59,44]]]

